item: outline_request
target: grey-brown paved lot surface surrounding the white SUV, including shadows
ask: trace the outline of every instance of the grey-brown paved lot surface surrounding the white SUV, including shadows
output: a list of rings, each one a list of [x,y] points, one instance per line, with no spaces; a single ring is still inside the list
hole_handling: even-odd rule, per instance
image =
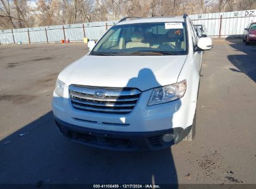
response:
[[[255,45],[216,41],[203,57],[194,141],[143,153],[91,149],[57,132],[55,80],[86,52],[84,44],[0,47],[0,184],[256,184]]]

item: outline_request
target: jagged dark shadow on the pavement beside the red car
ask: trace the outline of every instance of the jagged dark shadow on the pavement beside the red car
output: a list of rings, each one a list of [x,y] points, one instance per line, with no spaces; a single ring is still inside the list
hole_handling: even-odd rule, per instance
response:
[[[242,39],[227,39],[232,44],[229,44],[230,47],[239,50],[240,52],[244,52],[245,54],[241,55],[228,55],[229,61],[238,68],[230,68],[232,71],[243,72],[248,75],[252,80],[256,82],[256,43],[245,45],[242,42]]]

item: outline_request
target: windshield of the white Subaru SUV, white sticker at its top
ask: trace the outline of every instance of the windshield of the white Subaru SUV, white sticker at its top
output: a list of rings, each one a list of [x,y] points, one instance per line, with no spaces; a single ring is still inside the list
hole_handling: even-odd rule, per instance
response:
[[[184,22],[115,25],[90,55],[186,55]]]

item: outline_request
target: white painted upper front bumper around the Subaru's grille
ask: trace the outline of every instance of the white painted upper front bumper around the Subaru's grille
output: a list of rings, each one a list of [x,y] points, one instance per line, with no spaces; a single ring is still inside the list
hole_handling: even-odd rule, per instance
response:
[[[190,94],[176,101],[147,106],[152,90],[143,91],[133,111],[129,114],[105,114],[81,111],[73,108],[69,88],[65,88],[64,98],[54,92],[52,111],[54,115],[69,124],[119,132],[163,131],[192,125],[196,101],[190,102]]]

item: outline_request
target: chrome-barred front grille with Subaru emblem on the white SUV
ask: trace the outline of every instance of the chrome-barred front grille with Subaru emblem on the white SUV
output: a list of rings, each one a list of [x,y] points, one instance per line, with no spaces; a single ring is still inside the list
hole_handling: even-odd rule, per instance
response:
[[[108,114],[130,113],[141,94],[133,88],[96,88],[80,85],[70,85],[69,91],[73,108]]]

